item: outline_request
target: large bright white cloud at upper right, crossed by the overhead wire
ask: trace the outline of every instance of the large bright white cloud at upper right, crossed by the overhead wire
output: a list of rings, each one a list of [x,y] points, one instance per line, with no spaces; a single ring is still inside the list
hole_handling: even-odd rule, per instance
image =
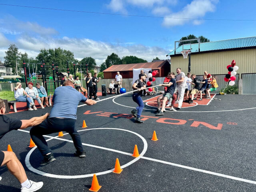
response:
[[[166,17],[174,18],[201,18],[205,16],[207,12],[214,12],[216,8],[216,3],[218,0],[193,0],[190,4],[187,4],[180,12],[172,13],[166,15]],[[174,18],[164,18],[164,26],[176,26],[184,25],[185,23],[191,22],[188,19],[174,19]],[[200,20],[192,20],[196,25],[200,24]]]

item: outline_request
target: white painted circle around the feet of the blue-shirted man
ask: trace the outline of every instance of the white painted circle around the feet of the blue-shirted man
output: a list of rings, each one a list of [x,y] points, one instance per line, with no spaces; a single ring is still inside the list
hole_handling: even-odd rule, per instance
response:
[[[80,131],[87,131],[87,130],[97,130],[97,129],[114,129],[114,130],[122,130],[122,131],[127,131],[127,132],[130,132],[132,134],[135,134],[136,136],[138,136],[139,138],[142,139],[143,143],[144,143],[144,147],[143,147],[143,150],[142,152],[140,153],[140,156],[138,156],[137,158],[134,158],[134,160],[124,164],[121,166],[121,168],[125,168],[131,164],[133,164],[134,162],[138,161],[147,151],[148,149],[148,143],[146,142],[146,139],[144,137],[142,137],[140,134],[136,133],[136,132],[132,132],[130,130],[125,130],[125,129],[118,129],[118,128],[94,128],[94,129],[85,129],[85,130],[78,130],[78,132]],[[49,141],[49,140],[52,140],[52,139],[55,139],[57,138],[58,136],[56,137],[52,137],[46,141]],[[73,142],[73,141],[72,141]],[[92,177],[93,174],[84,174],[84,175],[56,175],[56,174],[50,174],[50,173],[46,173],[46,172],[43,172],[43,171],[40,171],[40,170],[37,170],[35,169],[34,167],[32,167],[32,165],[30,164],[29,162],[29,159],[30,159],[30,155],[32,154],[32,152],[37,148],[37,146],[35,146],[34,148],[32,148],[28,154],[26,155],[26,159],[25,159],[25,164],[27,166],[27,168],[34,172],[34,173],[37,173],[39,175],[42,175],[42,176],[47,176],[47,177],[53,177],[53,178],[60,178],[60,179],[77,179],[77,178],[86,178],[86,177]],[[98,173],[95,173],[96,175],[103,175],[103,174],[108,174],[108,173],[112,173],[112,171],[114,170],[111,169],[111,170],[107,170],[107,171],[103,171],[103,172],[98,172]]]

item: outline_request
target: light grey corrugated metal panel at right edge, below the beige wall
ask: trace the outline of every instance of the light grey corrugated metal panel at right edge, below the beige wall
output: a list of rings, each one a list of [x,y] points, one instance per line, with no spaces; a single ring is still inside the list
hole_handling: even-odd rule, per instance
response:
[[[243,94],[256,95],[256,74],[242,74]]]

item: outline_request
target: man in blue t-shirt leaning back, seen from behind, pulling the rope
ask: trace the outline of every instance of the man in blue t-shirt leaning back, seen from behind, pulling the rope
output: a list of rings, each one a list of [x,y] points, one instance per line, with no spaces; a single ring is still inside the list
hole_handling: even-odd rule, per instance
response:
[[[56,88],[52,101],[54,102],[54,106],[52,107],[48,119],[30,130],[32,140],[38,147],[42,156],[44,156],[40,165],[46,165],[56,160],[43,135],[61,131],[66,131],[70,134],[76,148],[74,154],[81,158],[85,157],[81,138],[75,127],[77,118],[76,110],[79,102],[84,102],[87,105],[96,104],[96,101],[87,99],[80,92],[76,91],[73,82],[70,80],[66,80],[62,87]]]

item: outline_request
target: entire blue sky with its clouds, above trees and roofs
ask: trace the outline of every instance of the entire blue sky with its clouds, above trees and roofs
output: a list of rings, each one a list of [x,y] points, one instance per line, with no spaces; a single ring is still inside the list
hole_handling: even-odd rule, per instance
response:
[[[61,3],[60,3],[61,2]],[[249,0],[62,0],[0,1],[1,4],[176,18],[256,20]],[[256,35],[256,21],[184,20],[66,12],[0,5],[0,60],[10,43],[29,57],[42,48],[64,48],[100,65],[115,52],[151,61],[174,49],[182,36],[211,41]]]

